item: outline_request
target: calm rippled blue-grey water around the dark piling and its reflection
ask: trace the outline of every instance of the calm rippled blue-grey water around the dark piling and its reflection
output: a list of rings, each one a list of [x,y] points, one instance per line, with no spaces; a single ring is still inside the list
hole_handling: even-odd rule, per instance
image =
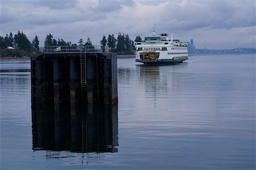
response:
[[[118,146],[87,153],[32,150],[30,61],[0,62],[1,169],[255,169],[255,55],[118,59]]]

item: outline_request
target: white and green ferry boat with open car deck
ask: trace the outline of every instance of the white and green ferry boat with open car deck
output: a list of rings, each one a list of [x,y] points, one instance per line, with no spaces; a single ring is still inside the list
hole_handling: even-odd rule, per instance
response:
[[[168,34],[146,36],[141,42],[135,42],[135,61],[148,65],[178,64],[188,60],[188,43],[182,43],[178,39],[168,38]]]

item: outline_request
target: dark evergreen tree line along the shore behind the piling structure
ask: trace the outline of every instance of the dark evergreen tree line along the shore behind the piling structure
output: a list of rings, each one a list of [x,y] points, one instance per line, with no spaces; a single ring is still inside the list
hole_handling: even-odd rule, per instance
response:
[[[135,42],[138,41],[140,36],[135,38]],[[130,39],[128,34],[119,34],[117,38],[112,35],[108,35],[108,38],[104,35],[100,44],[106,47],[109,47],[112,52],[117,52],[118,54],[128,55],[133,54],[135,52],[135,45],[134,41]],[[71,42],[65,42],[63,39],[54,39],[52,34],[48,34],[44,40],[44,46],[46,45],[77,45]],[[92,45],[90,38],[88,37],[85,45]],[[9,51],[6,52],[7,47],[15,47],[15,49],[20,51],[28,52],[35,52],[39,51],[39,38],[35,35],[35,38],[30,42],[28,40],[26,34],[22,31],[18,31],[17,34],[13,35],[12,32],[10,34],[6,34],[5,37],[0,36],[0,48],[1,53],[10,53]],[[24,52],[23,52],[24,53]],[[1,55],[2,56],[2,55]]]

